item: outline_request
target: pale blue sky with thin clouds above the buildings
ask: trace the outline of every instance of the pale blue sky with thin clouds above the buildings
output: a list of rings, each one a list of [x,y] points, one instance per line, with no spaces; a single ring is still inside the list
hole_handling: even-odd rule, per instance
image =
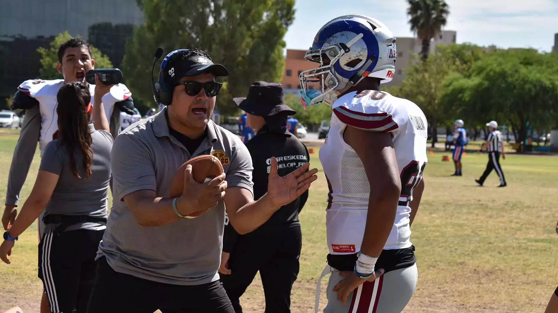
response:
[[[457,42],[502,48],[532,47],[551,51],[558,33],[558,0],[446,0],[450,15],[445,30]],[[412,37],[406,0],[296,0],[295,21],[285,36],[287,48],[307,49],[330,19],[364,14],[386,24],[396,37]]]

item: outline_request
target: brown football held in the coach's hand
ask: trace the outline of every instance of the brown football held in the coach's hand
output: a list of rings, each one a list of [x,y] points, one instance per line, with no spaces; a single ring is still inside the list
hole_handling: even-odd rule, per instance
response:
[[[171,185],[169,188],[169,197],[176,198],[182,195],[184,190],[184,170],[188,164],[192,165],[192,176],[197,183],[204,183],[206,178],[213,179],[223,173],[223,166],[218,158],[213,155],[199,155],[195,158],[187,160],[176,170],[174,177],[172,177]],[[194,212],[189,217],[198,217],[205,211]]]

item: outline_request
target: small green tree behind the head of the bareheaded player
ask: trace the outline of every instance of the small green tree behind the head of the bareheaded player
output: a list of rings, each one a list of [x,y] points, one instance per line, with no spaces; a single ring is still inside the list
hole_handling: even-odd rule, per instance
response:
[[[79,37],[79,36],[78,36]],[[56,64],[58,63],[58,48],[62,43],[66,40],[71,39],[72,37],[67,31],[59,33],[54,40],[50,43],[50,48],[46,49],[43,47],[39,47],[37,52],[41,55],[41,69],[39,70],[39,74],[41,79],[61,79],[62,74],[58,72],[56,69]],[[95,67],[97,69],[110,69],[112,68],[112,63],[107,56],[103,55],[99,51],[99,49],[90,46],[91,54],[93,60],[95,60]]]

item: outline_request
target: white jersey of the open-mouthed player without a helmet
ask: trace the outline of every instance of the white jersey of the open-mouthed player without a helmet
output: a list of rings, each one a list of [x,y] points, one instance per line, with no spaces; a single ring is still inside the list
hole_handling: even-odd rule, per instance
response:
[[[56,114],[56,95],[60,88],[64,86],[64,80],[40,80],[32,79],[21,83],[18,90],[24,94],[31,96],[39,101],[39,110],[41,112],[41,135],[39,138],[39,149],[42,151],[52,140],[52,134],[58,129],[58,114]],[[95,85],[89,85],[91,93],[91,103],[94,103]],[[118,101],[128,99],[131,92],[123,84],[114,85],[110,91],[103,96],[103,106],[107,119],[114,109],[114,104]]]

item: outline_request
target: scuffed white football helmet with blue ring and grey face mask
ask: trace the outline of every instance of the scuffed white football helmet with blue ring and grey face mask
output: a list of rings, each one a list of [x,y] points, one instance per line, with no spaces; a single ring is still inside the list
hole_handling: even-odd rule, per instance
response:
[[[345,15],[326,23],[305,55],[320,66],[300,73],[302,106],[333,105],[364,77],[391,81],[397,58],[395,41],[386,25],[371,17]],[[307,82],[321,82],[321,92],[309,89]]]

